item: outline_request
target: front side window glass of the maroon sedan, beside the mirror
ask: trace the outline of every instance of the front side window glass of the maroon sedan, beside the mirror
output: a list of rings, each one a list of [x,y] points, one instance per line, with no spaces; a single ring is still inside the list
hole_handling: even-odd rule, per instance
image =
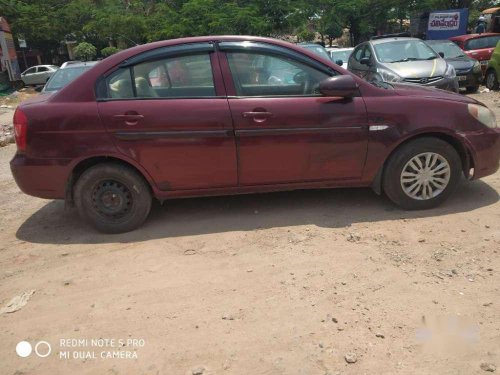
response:
[[[262,53],[229,52],[229,68],[238,96],[317,95],[329,75],[294,59]]]

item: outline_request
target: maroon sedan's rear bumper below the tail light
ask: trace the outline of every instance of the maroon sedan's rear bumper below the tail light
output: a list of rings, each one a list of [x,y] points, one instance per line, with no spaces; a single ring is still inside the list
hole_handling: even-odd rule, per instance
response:
[[[64,199],[69,160],[32,159],[16,154],[10,170],[17,186],[26,194],[46,199]]]

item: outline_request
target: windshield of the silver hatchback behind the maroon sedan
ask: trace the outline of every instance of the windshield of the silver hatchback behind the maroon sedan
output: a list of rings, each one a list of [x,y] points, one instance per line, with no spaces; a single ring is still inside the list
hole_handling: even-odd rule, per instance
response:
[[[396,40],[375,44],[375,54],[382,63],[432,60],[438,55],[421,40]]]

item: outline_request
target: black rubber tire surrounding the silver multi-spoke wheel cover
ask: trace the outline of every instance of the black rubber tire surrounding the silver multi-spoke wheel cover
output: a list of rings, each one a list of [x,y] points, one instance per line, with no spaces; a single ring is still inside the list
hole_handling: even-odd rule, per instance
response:
[[[418,200],[405,193],[402,187],[401,175],[403,168],[414,157],[431,152],[440,155],[449,165],[449,181],[446,187],[436,196]],[[407,210],[425,210],[436,207],[445,201],[460,181],[462,162],[455,148],[448,142],[434,137],[418,138],[402,145],[389,158],[383,175],[385,194],[398,206]],[[419,188],[417,188],[419,190]]]

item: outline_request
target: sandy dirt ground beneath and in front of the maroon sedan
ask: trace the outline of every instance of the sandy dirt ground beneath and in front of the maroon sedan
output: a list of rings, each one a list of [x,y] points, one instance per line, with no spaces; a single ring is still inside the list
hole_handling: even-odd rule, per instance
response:
[[[499,112],[498,93],[475,97]],[[0,308],[34,293],[0,315],[2,375],[500,367],[500,173],[430,211],[369,189],[185,199],[102,235],[22,194],[14,152],[0,149]],[[23,340],[51,352],[19,357]]]

